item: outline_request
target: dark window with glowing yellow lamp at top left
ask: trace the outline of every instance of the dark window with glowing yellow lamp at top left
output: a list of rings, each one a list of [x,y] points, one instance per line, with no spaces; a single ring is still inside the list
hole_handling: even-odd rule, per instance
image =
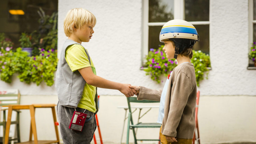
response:
[[[51,15],[58,11],[57,0],[5,0],[1,1],[0,12],[0,33],[5,33],[5,36],[14,42],[14,48],[20,46],[19,37],[21,33],[31,33],[39,29],[38,19],[40,18],[37,11],[42,7],[46,15]],[[22,11],[17,14],[15,11]],[[14,13],[12,13],[14,11]]]

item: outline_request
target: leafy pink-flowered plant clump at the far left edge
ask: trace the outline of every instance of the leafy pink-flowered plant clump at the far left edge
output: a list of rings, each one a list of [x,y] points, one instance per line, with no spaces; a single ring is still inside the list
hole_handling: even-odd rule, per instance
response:
[[[22,73],[29,57],[26,51],[19,47],[14,52],[10,47],[2,47],[0,51],[0,78],[11,83],[14,73]]]

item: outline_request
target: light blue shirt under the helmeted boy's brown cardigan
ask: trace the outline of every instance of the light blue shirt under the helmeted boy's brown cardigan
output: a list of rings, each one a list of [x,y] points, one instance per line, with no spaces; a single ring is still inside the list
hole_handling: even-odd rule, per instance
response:
[[[184,63],[188,63],[188,62],[184,62]],[[173,72],[171,72],[171,74],[172,73]],[[170,74],[169,79],[171,78],[171,74]],[[169,79],[168,78],[166,79],[165,86],[163,87],[163,91],[162,91],[161,98],[160,98],[159,114],[158,114],[158,118],[157,118],[157,123],[161,123],[161,124],[162,124],[163,116],[164,116],[165,97],[166,97],[166,92],[167,92],[167,87],[168,87]]]

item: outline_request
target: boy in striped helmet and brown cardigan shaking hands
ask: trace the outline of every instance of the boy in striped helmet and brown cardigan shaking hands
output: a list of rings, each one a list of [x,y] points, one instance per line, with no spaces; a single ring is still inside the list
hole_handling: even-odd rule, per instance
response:
[[[163,89],[129,86],[137,91],[138,100],[160,101],[158,123],[161,123],[162,144],[191,143],[195,130],[197,85],[192,47],[199,41],[195,27],[184,20],[174,19],[163,25],[159,39],[165,43],[166,58],[175,58],[178,66],[168,75]]]

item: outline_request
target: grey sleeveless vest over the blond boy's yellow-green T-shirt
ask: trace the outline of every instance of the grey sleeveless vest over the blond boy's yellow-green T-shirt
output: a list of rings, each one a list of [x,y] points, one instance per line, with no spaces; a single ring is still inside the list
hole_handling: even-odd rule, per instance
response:
[[[66,107],[77,107],[82,97],[83,89],[86,83],[78,70],[74,72],[71,71],[65,59],[66,48],[74,44],[81,45],[80,43],[77,43],[70,39],[67,39],[64,42],[56,72],[55,88],[57,90],[59,104]],[[91,64],[90,56],[86,49],[85,52]],[[97,87],[94,101],[96,103],[96,114],[98,112]]]

